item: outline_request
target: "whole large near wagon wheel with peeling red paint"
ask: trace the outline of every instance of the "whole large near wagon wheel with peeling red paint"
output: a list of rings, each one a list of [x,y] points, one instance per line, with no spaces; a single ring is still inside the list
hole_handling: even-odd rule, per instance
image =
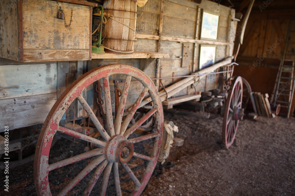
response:
[[[120,76],[119,74],[121,74],[121,77],[122,75],[126,75],[126,78],[122,90],[121,100],[119,102],[118,112],[113,123],[109,77],[111,75]],[[104,97],[106,103],[106,129],[104,129],[104,127],[99,123],[90,106],[83,98],[83,96],[81,96],[82,91],[87,86],[97,80],[100,80],[101,78],[104,84]],[[124,109],[127,109],[125,108],[125,103],[127,100],[128,91],[131,92],[132,90],[129,90],[131,78],[137,79],[143,85],[143,90],[135,101],[134,105],[129,110],[127,116],[122,121]],[[149,93],[150,97],[152,98],[153,108],[142,118],[140,118],[135,124],[128,128],[133,115],[135,114],[137,108],[142,102],[142,99],[147,93]],[[78,101],[88,113],[89,118],[91,118],[92,122],[95,124],[97,130],[101,135],[101,140],[83,135],[81,133],[77,133],[73,130],[69,130],[59,125],[60,119],[62,118],[63,114],[75,99],[78,99]],[[152,115],[155,115],[155,131],[148,135],[134,137],[136,133],[133,132]],[[48,165],[50,145],[53,140],[53,136],[57,132],[71,135],[90,143],[94,143],[99,147],[89,152],[82,153],[80,155]],[[145,186],[148,184],[153,170],[155,169],[155,166],[157,164],[162,143],[162,136],[162,103],[155,85],[150,80],[150,78],[145,75],[145,73],[132,66],[118,64],[102,66],[91,70],[78,78],[74,83],[71,84],[71,86],[69,86],[65,90],[65,92],[53,105],[53,108],[50,110],[45,120],[35,153],[34,177],[36,183],[36,192],[38,195],[52,195],[48,181],[48,175],[50,175],[51,170],[55,170],[65,165],[75,163],[79,160],[92,157],[93,160],[91,160],[91,162],[76,177],[74,177],[71,182],[68,183],[68,185],[62,187],[63,189],[58,193],[58,195],[67,194],[74,186],[77,185],[78,182],[80,182],[80,180],[82,180],[83,177],[85,177],[89,172],[91,172],[91,170],[94,170],[95,168],[95,172],[92,175],[91,180],[88,182],[83,195],[90,194],[102,172],[103,176],[100,185],[100,195],[105,195],[111,171],[114,176],[116,194],[122,195],[118,169],[119,167],[121,168],[121,166],[119,166],[119,164],[122,165],[122,168],[124,168],[124,170],[126,170],[128,174],[126,175],[131,178],[130,181],[133,181],[135,183],[134,189],[132,188],[133,190],[131,192],[131,195],[140,195]],[[149,144],[152,143],[150,145],[151,152],[149,156],[134,152],[136,145],[139,145],[140,142],[144,140],[149,142]],[[136,176],[138,175],[138,172],[134,173],[134,171],[132,171],[132,169],[130,169],[129,165],[127,164],[130,163],[129,161],[131,158],[140,159],[142,161],[145,161],[146,163],[144,171],[142,172],[140,177]],[[124,181],[126,182],[126,179],[124,179]]]

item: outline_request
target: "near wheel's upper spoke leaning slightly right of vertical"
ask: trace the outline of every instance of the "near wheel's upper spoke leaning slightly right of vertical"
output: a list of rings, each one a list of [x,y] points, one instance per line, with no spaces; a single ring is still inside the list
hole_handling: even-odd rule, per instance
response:
[[[121,127],[121,123],[122,123],[122,117],[123,117],[123,113],[124,113],[124,108],[125,108],[125,103],[127,100],[127,95],[128,95],[128,90],[129,90],[131,78],[132,78],[131,76],[126,76],[126,79],[125,79],[120,103],[118,106],[118,111],[116,114],[116,119],[114,122],[114,130],[115,130],[116,135],[120,134],[120,127]]]

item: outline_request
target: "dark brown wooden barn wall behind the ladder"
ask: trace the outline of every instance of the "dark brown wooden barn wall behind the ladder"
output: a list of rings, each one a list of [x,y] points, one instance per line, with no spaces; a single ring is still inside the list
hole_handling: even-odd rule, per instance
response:
[[[295,59],[295,18],[291,18],[294,12],[277,10],[291,4],[295,6],[294,1],[273,1],[266,9],[250,14],[244,44],[237,56],[240,66],[235,67],[234,74],[244,77],[252,91],[271,96],[287,41],[290,43],[285,59]],[[291,32],[287,38],[290,19]]]

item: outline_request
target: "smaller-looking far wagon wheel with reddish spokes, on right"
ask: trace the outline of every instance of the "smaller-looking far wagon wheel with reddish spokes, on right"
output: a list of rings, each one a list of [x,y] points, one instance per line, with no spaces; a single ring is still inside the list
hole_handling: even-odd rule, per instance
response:
[[[242,108],[243,97],[242,77],[237,77],[230,88],[225,103],[222,124],[222,143],[229,148],[235,140],[239,120],[242,120],[244,109]]]

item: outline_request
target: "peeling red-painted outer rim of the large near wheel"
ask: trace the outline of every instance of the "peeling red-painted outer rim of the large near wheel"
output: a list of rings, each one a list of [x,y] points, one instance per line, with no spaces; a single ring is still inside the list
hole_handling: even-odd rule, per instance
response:
[[[163,136],[162,103],[161,103],[158,91],[157,91],[154,83],[150,80],[150,78],[147,75],[145,75],[145,73],[143,73],[139,69],[132,67],[132,66],[117,64],[117,65],[108,65],[108,66],[98,67],[98,68],[93,69],[93,70],[89,71],[88,73],[84,74],[80,78],[78,78],[74,83],[71,84],[71,86],[69,86],[65,90],[65,92],[60,96],[60,98],[58,98],[58,100],[54,104],[53,108],[50,110],[50,112],[45,120],[45,123],[42,127],[42,130],[41,130],[41,133],[40,133],[40,136],[38,139],[38,143],[37,143],[36,153],[35,153],[34,178],[35,178],[35,183],[36,183],[36,192],[38,195],[52,195],[51,191],[50,191],[49,181],[48,181],[48,174],[49,174],[48,157],[49,157],[50,145],[52,143],[53,136],[57,132],[58,128],[60,128],[59,122],[60,122],[60,119],[62,118],[63,114],[65,113],[65,111],[67,110],[69,105],[73,102],[73,100],[75,100],[83,92],[83,90],[87,86],[89,86],[93,82],[99,80],[100,78],[104,78],[104,81],[106,81],[105,78],[108,78],[109,76],[111,76],[113,74],[126,75],[126,79],[128,76],[132,76],[132,78],[136,78],[138,81],[140,81],[142,83],[142,85],[144,86],[145,89],[148,88],[148,93],[150,94],[150,96],[152,98],[152,102],[153,102],[153,109],[152,110],[154,111],[154,114],[155,114],[155,130],[156,130],[156,132],[153,133],[154,135],[150,134],[149,137],[155,138],[154,145],[153,145],[153,153],[152,153],[151,157],[149,157],[150,160],[148,160],[149,162],[146,166],[145,172],[140,179],[140,184],[135,186],[135,189],[132,191],[132,193],[130,195],[140,195],[141,192],[144,190],[145,186],[148,184],[148,181],[153,173],[153,170],[155,169],[155,166],[156,166],[156,163],[158,160],[158,156],[160,153],[161,143],[162,143],[162,136]],[[131,77],[130,77],[130,80],[131,80]],[[108,79],[107,79],[107,82],[108,82]],[[130,82],[129,82],[129,84],[130,84]],[[127,84],[128,88],[129,88],[129,84]],[[127,90],[127,93],[128,93],[128,90]],[[81,98],[81,96],[79,96],[79,98]],[[124,110],[124,106],[123,106],[123,110]],[[107,120],[108,119],[109,118],[107,118]],[[120,121],[120,120],[118,120],[118,121]],[[111,122],[111,120],[109,122]],[[115,120],[115,123],[116,123],[116,120]],[[124,121],[123,121],[123,123],[124,123]],[[60,131],[60,130],[58,130],[58,131]],[[110,131],[110,129],[108,131]],[[124,133],[126,134],[126,132],[124,132]],[[143,138],[141,138],[141,139],[143,139]],[[132,140],[132,139],[130,139],[130,140]],[[134,140],[132,140],[132,141],[134,141]],[[97,141],[95,140],[95,142],[97,142]],[[104,145],[104,143],[100,143],[100,144]],[[106,152],[106,150],[104,152]],[[108,154],[105,153],[105,155],[108,155]],[[139,155],[137,154],[137,156],[139,156]],[[98,164],[96,167],[98,167],[99,165],[102,165],[102,162],[105,163],[105,160],[106,159],[101,161],[100,164]],[[147,158],[145,158],[145,160],[147,160]],[[110,173],[110,170],[118,170],[118,169],[116,169],[116,168],[118,168],[117,167],[118,164],[116,164],[116,163],[109,164],[109,163],[111,163],[111,162],[107,162],[107,164],[104,164],[105,171],[108,170]],[[112,167],[112,165],[114,165],[114,167]],[[123,167],[126,171],[129,168],[129,166],[127,164],[125,164]],[[128,172],[128,174],[129,173],[130,172]],[[119,177],[118,177],[118,179],[119,179]],[[135,181],[136,181],[136,179],[135,179]],[[107,184],[108,184],[108,182],[106,182],[106,185]],[[101,187],[103,187],[103,185],[101,185]],[[89,190],[89,187],[87,187],[86,189]],[[101,195],[104,195],[105,191],[106,191],[106,187],[104,190],[102,188]],[[117,192],[117,195],[122,194],[120,188],[117,190],[117,184],[116,184],[116,192]],[[89,193],[90,192],[87,192],[86,190],[84,192],[84,194],[86,194],[86,195],[88,195]],[[61,194],[61,195],[64,195],[64,194]]]

